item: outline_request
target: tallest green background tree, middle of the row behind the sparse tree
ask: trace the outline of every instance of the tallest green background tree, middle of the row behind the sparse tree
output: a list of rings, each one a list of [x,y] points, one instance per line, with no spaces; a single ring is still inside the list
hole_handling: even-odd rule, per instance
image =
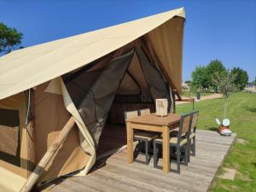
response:
[[[208,86],[213,87],[215,92],[218,92],[218,86],[214,81],[212,81],[212,79],[216,73],[223,73],[225,71],[226,69],[221,61],[213,60],[207,65],[207,75],[210,79],[208,80]]]

